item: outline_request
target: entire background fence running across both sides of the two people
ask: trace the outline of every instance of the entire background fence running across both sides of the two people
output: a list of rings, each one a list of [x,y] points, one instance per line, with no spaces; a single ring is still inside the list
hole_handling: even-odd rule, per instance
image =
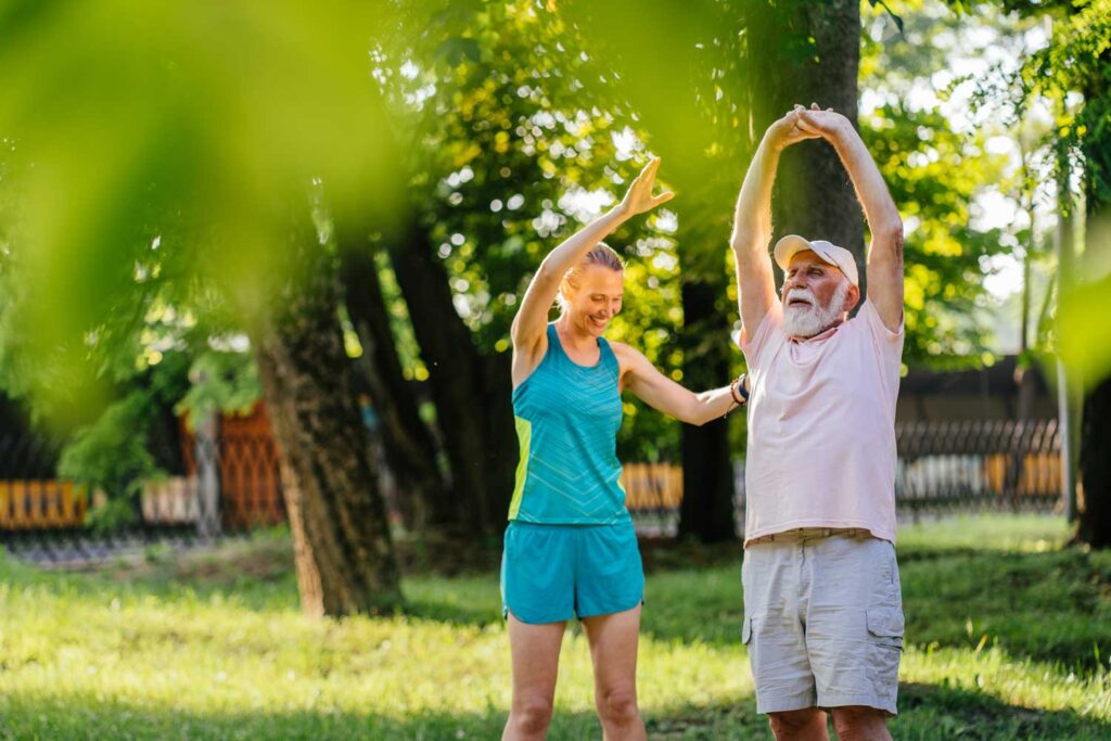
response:
[[[1051,511],[1060,501],[1060,437],[1053,420],[897,425],[895,502],[905,520],[953,511]],[[97,528],[104,494],[54,475],[56,444],[0,437],[0,544],[40,562],[83,563],[152,543],[191,545],[286,519],[277,445],[258,425],[183,430],[179,469],[147,481],[130,522]],[[803,463],[804,464],[804,463]],[[734,468],[735,525],[743,534],[744,462]],[[629,463],[622,483],[638,531],[673,537],[682,469]],[[388,491],[398,502],[400,492]]]

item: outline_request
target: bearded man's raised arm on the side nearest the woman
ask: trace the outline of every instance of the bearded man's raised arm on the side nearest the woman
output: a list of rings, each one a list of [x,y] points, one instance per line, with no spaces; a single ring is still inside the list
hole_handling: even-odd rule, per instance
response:
[[[751,339],[764,314],[775,303],[775,279],[768,254],[771,241],[771,191],[779,154],[787,147],[820,134],[798,128],[799,113],[791,111],[772,123],[757,148],[744,176],[733,217],[730,242],[737,258],[738,303],[743,324],[742,341]]]

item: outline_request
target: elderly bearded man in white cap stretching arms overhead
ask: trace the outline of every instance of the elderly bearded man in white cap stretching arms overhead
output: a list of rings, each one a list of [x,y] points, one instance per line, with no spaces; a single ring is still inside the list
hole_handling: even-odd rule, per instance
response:
[[[780,152],[837,150],[872,241],[868,300],[852,253],[788,236],[768,244]],[[845,218],[851,218],[845,214]],[[749,367],[744,625],[757,709],[777,739],[890,739],[903,615],[895,563],[895,397],[902,354],[902,222],[852,124],[795,107],[764,134],[732,237]]]

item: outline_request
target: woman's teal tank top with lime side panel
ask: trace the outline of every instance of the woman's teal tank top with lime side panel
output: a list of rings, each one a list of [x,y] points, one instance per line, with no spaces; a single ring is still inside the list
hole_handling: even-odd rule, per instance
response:
[[[573,362],[548,326],[548,352],[513,390],[521,462],[509,519],[543,524],[609,524],[629,519],[617,435],[620,371],[598,339],[595,366]]]

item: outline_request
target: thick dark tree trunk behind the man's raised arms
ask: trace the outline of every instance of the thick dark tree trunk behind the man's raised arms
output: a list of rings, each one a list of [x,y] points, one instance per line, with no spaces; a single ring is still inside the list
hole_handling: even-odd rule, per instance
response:
[[[858,0],[754,2],[747,30],[754,143],[795,103],[832,108],[857,126]],[[803,41],[808,37],[812,47]],[[783,152],[772,204],[775,239],[791,233],[827,239],[857,256],[863,300],[862,211],[828,142],[803,141]]]

